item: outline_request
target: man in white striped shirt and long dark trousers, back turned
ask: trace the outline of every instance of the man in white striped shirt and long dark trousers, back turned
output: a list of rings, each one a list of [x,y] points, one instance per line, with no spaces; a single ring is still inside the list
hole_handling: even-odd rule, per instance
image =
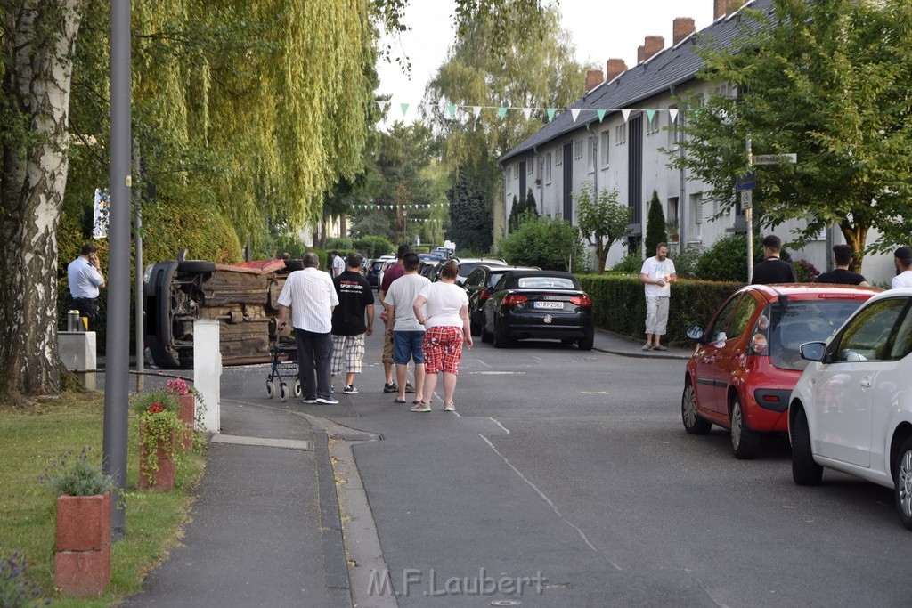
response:
[[[338,401],[332,396],[329,366],[333,356],[333,309],[339,303],[336,286],[328,273],[319,270],[316,253],[305,253],[302,263],[304,270],[289,274],[279,294],[278,326],[281,329],[287,325],[290,306],[304,402],[335,405]]]

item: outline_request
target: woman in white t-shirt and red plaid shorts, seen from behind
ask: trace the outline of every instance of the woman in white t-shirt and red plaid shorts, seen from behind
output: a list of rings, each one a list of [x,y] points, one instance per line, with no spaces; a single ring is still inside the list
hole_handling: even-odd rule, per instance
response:
[[[469,297],[456,284],[459,265],[452,260],[440,269],[440,281],[430,283],[415,298],[415,317],[426,331],[421,343],[424,353],[424,400],[411,408],[413,412],[430,412],[430,399],[437,386],[437,375],[443,372],[443,411],[454,412],[453,393],[462,356],[462,343],[472,347],[469,331]],[[427,314],[425,314],[427,304]]]

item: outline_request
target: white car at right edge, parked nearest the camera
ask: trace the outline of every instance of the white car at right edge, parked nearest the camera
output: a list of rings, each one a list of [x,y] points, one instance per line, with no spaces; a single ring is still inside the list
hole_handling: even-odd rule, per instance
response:
[[[893,488],[912,530],[912,288],[876,294],[811,361],[789,398],[792,477],[817,485],[824,467]]]

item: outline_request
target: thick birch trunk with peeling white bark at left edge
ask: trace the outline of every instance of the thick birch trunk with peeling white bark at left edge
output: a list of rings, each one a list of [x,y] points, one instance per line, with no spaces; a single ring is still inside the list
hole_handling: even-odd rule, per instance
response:
[[[57,224],[67,186],[72,58],[84,0],[7,4],[0,238],[0,395],[57,395]],[[10,139],[13,139],[12,141]]]

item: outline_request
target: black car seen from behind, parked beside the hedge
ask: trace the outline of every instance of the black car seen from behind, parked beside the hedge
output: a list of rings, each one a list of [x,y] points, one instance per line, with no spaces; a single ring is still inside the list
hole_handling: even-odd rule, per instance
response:
[[[592,350],[592,300],[572,273],[508,271],[482,305],[481,333],[482,342],[493,342],[495,348],[547,338]]]

